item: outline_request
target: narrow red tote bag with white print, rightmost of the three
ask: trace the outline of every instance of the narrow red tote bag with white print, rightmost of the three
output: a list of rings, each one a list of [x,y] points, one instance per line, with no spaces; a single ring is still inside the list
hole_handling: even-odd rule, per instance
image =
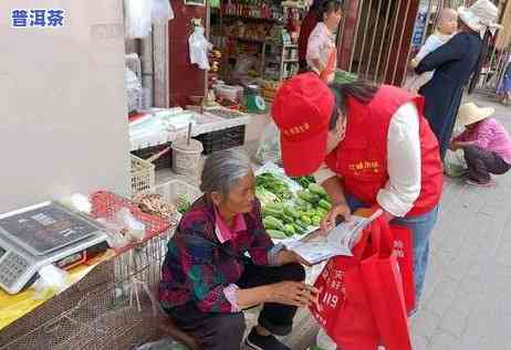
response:
[[[406,311],[409,314],[415,308],[414,236],[408,227],[393,223],[390,231],[394,236],[394,254],[401,273]]]

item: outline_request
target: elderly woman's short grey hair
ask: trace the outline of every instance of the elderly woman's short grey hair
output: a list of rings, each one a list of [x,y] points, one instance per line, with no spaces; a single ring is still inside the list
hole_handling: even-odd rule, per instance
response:
[[[229,195],[230,189],[252,171],[250,158],[244,151],[227,149],[212,153],[206,159],[200,190]]]

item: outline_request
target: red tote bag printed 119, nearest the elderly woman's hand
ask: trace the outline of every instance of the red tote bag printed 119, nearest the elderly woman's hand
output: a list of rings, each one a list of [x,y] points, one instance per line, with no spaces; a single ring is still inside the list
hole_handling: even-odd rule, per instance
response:
[[[320,291],[319,305],[311,311],[343,350],[375,350],[379,343],[361,269],[365,253],[373,252],[369,236],[371,230],[365,229],[354,256],[331,258],[314,284]]]

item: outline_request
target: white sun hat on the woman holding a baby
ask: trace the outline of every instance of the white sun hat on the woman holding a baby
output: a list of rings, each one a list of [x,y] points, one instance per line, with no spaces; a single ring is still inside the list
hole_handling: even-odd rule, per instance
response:
[[[471,7],[460,7],[458,9],[459,19],[471,30],[484,35],[486,29],[492,33],[501,25],[497,23],[499,9],[490,0],[478,0]]]

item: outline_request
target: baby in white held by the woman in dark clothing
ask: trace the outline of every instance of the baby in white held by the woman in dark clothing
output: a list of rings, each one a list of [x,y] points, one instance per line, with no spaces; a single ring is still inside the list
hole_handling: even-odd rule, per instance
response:
[[[437,30],[428,36],[417,55],[411,60],[411,67],[416,68],[420,61],[428,54],[447,43],[458,30],[458,13],[452,9],[442,9],[438,19]],[[425,72],[414,76],[407,82],[405,88],[410,93],[417,94],[432,77],[434,72]]]

